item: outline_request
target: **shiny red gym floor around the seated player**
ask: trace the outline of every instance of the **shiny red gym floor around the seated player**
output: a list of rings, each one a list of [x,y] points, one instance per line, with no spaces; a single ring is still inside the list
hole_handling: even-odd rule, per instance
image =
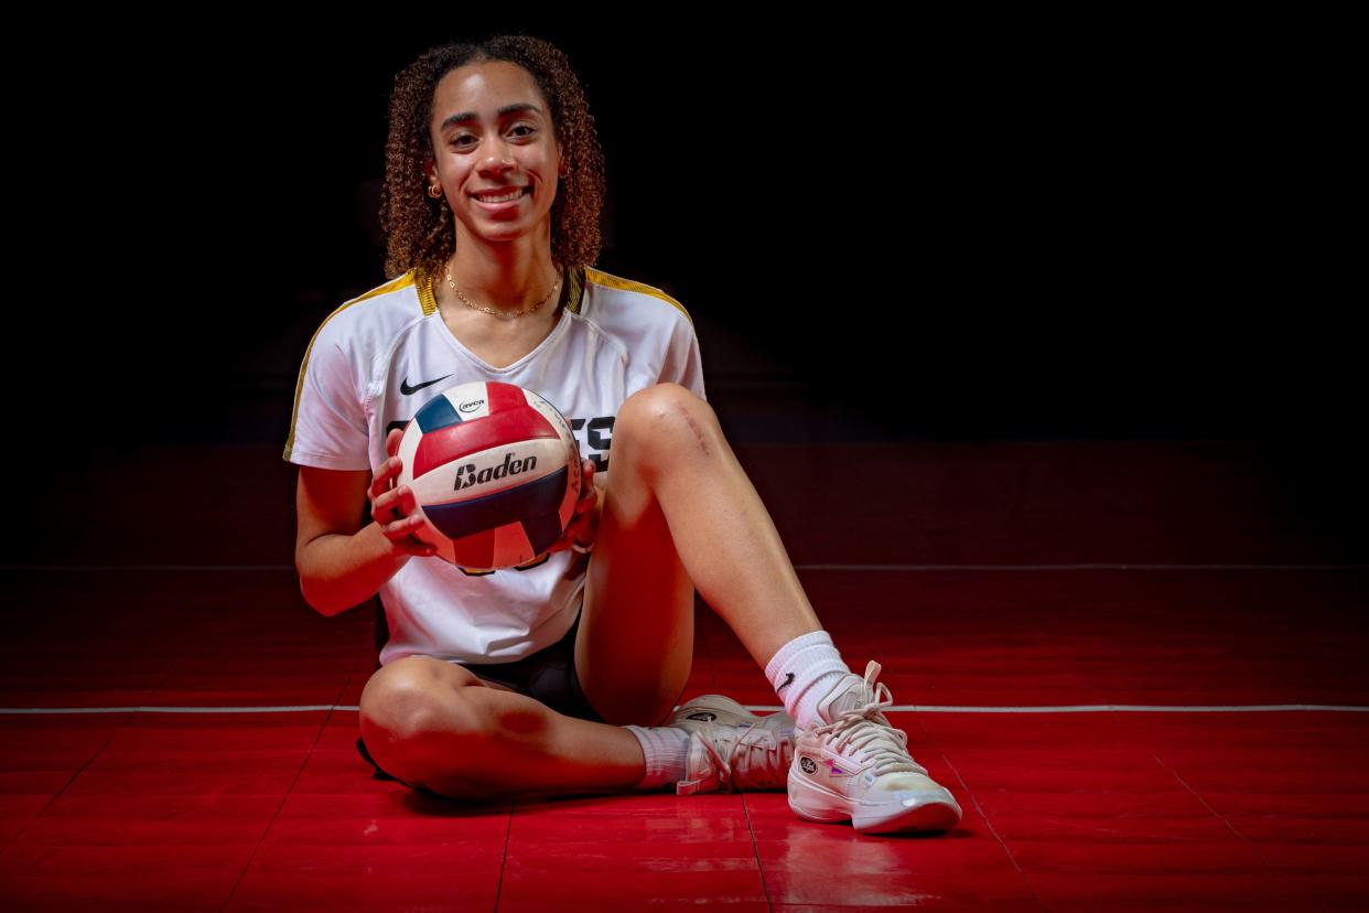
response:
[[[1239,443],[739,454],[953,832],[806,824],[783,794],[470,808],[375,780],[372,619],[298,600],[278,450],[163,449],[89,468],[47,506],[104,509],[0,571],[0,906],[1369,906],[1369,565],[1313,475]],[[168,485],[183,465],[212,482]],[[695,650],[687,697],[778,706],[708,609]]]

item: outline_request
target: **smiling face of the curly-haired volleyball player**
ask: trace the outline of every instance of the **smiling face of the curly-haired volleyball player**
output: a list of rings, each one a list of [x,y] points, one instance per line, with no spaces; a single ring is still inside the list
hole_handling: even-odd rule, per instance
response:
[[[494,60],[448,73],[433,92],[428,137],[428,186],[442,186],[457,249],[467,237],[550,237],[561,146],[527,70]]]

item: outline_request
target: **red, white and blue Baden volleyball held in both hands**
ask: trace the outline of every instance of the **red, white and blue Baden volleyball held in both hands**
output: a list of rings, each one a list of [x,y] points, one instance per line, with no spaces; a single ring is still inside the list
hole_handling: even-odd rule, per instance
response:
[[[550,402],[512,383],[463,383],[404,428],[398,485],[413,490],[419,539],[467,571],[527,564],[570,524],[580,450]]]

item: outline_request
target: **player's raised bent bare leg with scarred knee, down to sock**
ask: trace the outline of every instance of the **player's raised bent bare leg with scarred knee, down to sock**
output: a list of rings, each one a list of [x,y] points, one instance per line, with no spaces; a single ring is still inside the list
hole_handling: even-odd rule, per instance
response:
[[[761,668],[821,630],[775,523],[712,408],[672,383],[630,397],[590,561],[575,668],[611,723],[656,723],[693,660],[693,591]]]

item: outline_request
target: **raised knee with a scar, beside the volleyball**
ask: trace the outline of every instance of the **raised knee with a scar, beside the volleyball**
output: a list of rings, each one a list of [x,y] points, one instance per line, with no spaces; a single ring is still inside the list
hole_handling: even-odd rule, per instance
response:
[[[678,383],[657,383],[630,396],[613,423],[613,442],[643,450],[658,465],[661,459],[712,456],[724,446],[713,408]]]

